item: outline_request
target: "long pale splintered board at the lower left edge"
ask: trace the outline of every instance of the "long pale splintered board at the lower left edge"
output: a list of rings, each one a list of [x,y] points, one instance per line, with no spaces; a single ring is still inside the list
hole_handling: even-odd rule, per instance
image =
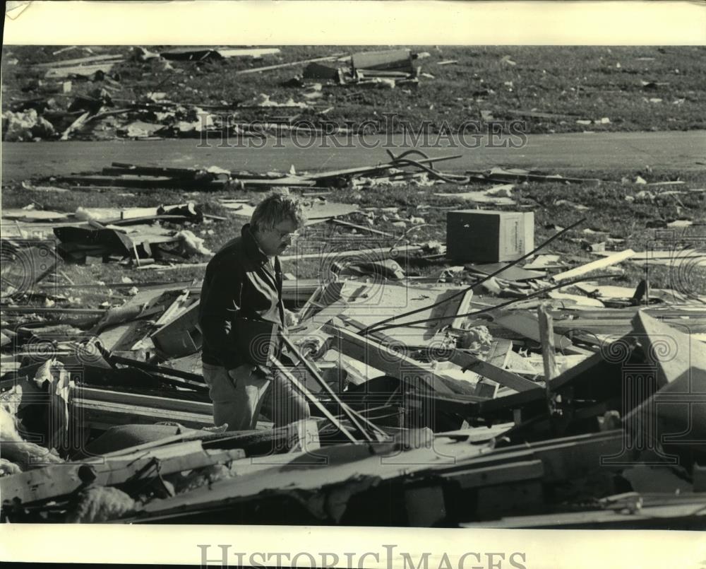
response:
[[[244,457],[241,449],[204,450],[201,440],[190,440],[150,450],[113,452],[81,462],[4,476],[0,479],[0,491],[4,502],[17,500],[30,504],[68,496],[89,484],[114,486]]]

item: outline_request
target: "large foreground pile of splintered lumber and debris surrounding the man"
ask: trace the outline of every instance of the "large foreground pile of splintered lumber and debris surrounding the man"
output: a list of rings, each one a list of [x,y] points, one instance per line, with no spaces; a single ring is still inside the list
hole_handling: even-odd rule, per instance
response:
[[[495,233],[456,247],[481,215]],[[596,269],[635,252],[571,268],[539,254],[532,223],[450,212],[437,253],[463,264],[429,277],[395,262],[417,245],[322,252],[311,237],[282,257],[321,261],[321,278],[283,284],[293,365],[270,363],[312,418],[282,428],[268,401],[256,430],[213,426],[198,282],[142,283],[102,310],[9,293],[3,519],[703,528],[703,300],[600,286]]]

